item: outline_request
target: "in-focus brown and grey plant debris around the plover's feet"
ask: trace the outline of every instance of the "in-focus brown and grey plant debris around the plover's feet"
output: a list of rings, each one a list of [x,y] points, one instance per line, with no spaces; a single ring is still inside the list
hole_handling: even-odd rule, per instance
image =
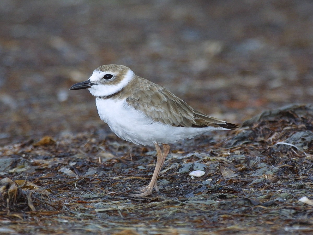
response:
[[[313,107],[267,111],[244,124],[210,143],[205,135],[178,143],[160,174],[160,193],[146,198],[128,194],[150,180],[156,153],[115,135],[1,147],[0,220],[12,227],[38,226],[33,220],[64,229],[75,224],[77,233],[95,234],[251,233],[250,225],[257,234],[256,220],[267,224],[263,232],[295,225],[313,232]],[[205,174],[189,176],[197,170]]]

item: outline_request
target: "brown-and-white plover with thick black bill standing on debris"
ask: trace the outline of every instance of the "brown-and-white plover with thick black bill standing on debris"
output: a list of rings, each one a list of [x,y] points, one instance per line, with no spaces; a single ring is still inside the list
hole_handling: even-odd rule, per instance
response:
[[[100,66],[87,81],[74,84],[70,90],[85,88],[96,97],[101,120],[117,136],[138,145],[156,147],[157,161],[151,182],[132,196],[144,197],[153,188],[158,191],[156,180],[170,150],[168,144],[206,131],[239,128],[193,109],[166,88],[136,76],[126,66]]]

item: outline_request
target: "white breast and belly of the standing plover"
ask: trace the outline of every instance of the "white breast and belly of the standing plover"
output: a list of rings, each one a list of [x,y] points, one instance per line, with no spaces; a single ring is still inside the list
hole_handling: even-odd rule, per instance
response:
[[[97,98],[96,106],[101,120],[105,121],[117,136],[139,145],[153,146],[155,142],[170,144],[219,129],[176,127],[155,122],[143,112],[128,105],[125,100]]]

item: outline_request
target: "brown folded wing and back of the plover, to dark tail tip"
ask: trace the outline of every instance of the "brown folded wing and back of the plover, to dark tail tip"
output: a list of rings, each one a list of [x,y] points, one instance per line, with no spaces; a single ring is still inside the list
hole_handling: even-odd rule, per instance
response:
[[[171,126],[222,127],[237,129],[239,126],[205,115],[175,96],[166,88],[138,77],[140,85],[133,88],[126,102],[153,120]]]

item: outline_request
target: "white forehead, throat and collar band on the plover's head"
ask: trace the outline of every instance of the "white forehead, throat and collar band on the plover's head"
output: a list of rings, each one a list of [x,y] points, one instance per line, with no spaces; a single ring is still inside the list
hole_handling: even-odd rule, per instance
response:
[[[92,73],[92,75],[90,76],[90,78],[89,78],[90,82],[95,83],[95,85],[88,88],[88,90],[90,91],[90,93],[93,96],[99,97],[99,96],[108,96],[108,95],[114,94],[114,93],[120,91],[121,89],[123,89],[131,81],[131,79],[134,77],[134,72],[131,70],[128,70],[124,76],[124,79],[121,80],[121,82],[118,84],[115,84],[115,85],[99,84],[100,79],[102,79],[102,77],[107,73],[110,73],[112,75],[116,75],[113,72],[102,72],[99,70],[95,70]]]

